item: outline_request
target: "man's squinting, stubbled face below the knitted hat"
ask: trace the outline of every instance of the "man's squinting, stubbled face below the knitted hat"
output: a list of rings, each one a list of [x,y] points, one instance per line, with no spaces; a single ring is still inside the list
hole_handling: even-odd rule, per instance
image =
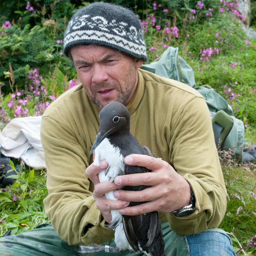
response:
[[[113,49],[76,45],[71,49],[76,71],[89,99],[99,108],[118,101],[125,106],[136,91],[137,68],[143,61]]]

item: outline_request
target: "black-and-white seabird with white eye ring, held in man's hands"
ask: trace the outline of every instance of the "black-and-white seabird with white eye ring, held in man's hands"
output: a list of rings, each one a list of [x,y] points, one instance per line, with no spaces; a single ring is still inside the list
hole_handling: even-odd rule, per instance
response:
[[[124,163],[124,158],[130,154],[153,156],[150,150],[143,148],[131,134],[128,109],[122,103],[111,102],[100,111],[99,117],[100,127],[90,155],[95,150],[94,165],[96,166],[100,165],[100,160],[108,163],[108,168],[99,173],[100,182],[113,182],[119,175],[151,172],[145,167]],[[149,187],[124,186],[120,189],[140,191]],[[118,200],[114,197],[114,192],[108,192],[106,198]],[[130,202],[129,206],[139,204],[142,203]],[[111,215],[112,221],[108,227],[115,231],[115,243],[119,250],[129,249],[133,252],[143,252],[148,256],[166,256],[158,212],[128,216],[114,210],[111,211]]]

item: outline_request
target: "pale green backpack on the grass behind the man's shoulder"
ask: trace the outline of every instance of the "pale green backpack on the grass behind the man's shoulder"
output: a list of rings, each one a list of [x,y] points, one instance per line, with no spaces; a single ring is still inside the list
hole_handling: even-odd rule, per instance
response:
[[[179,48],[170,46],[156,61],[142,65],[142,69],[156,75],[187,84],[200,92],[207,103],[212,118],[215,144],[224,150],[234,148],[234,157],[241,157],[244,144],[244,123],[233,116],[232,108],[209,85],[196,87],[194,71],[178,55]]]

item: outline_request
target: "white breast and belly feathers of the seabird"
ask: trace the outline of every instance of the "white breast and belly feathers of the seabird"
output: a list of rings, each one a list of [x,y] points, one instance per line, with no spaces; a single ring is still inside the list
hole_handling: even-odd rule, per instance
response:
[[[99,173],[100,182],[112,182],[115,180],[116,176],[124,174],[124,156],[120,153],[120,148],[113,146],[108,138],[102,140],[100,145],[95,149],[95,159],[93,164],[99,166],[100,160],[105,160],[108,163],[108,168]],[[118,200],[114,197],[114,192],[115,191],[110,191],[106,193],[106,198],[110,200]],[[115,227],[112,227],[115,230],[116,246],[120,250],[132,250],[124,233],[122,215],[118,210],[112,210],[111,215],[111,224],[117,223]]]

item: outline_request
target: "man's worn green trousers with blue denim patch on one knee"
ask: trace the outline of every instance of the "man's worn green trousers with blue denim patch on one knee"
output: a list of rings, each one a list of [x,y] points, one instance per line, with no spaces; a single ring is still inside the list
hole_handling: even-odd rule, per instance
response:
[[[162,223],[165,252],[168,256],[236,256],[231,239],[224,230],[210,228],[195,235],[179,235],[169,223]],[[104,245],[115,246],[113,240]],[[20,235],[0,238],[0,255],[8,256],[82,256],[78,245],[68,245],[57,236],[51,224],[42,224]],[[121,253],[96,252],[88,256],[146,256],[126,250]]]

